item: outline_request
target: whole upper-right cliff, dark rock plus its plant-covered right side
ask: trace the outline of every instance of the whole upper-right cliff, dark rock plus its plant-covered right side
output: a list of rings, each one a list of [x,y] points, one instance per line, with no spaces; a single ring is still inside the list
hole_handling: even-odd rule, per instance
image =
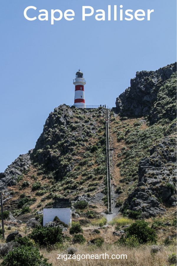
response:
[[[130,87],[116,99],[117,111],[125,116],[149,116],[151,123],[161,118],[175,119],[176,84],[169,80],[175,72],[176,63],[156,71],[137,72]]]

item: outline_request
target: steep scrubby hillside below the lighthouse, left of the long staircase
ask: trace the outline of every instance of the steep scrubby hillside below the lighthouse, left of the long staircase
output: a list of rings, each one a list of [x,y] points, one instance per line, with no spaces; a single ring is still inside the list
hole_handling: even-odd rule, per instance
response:
[[[4,193],[4,207],[18,219],[26,221],[37,210],[52,207],[55,197],[76,201],[82,196],[105,211],[100,202],[106,193],[105,108],[55,108],[35,149],[20,155],[1,176],[1,182],[8,181],[3,185],[11,186]]]

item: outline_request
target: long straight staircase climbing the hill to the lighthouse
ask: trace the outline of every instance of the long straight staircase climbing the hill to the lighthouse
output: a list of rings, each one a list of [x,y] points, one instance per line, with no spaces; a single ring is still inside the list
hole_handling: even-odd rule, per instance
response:
[[[111,175],[110,175],[110,159],[109,159],[109,113],[106,108],[106,157],[107,157],[107,182],[108,182],[108,213],[112,213],[111,201]]]

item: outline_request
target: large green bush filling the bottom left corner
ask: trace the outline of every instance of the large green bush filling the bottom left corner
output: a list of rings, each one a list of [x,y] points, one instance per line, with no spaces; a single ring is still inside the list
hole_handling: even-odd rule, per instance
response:
[[[3,259],[2,266],[52,266],[47,263],[47,259],[40,255],[36,247],[22,246],[14,248]]]

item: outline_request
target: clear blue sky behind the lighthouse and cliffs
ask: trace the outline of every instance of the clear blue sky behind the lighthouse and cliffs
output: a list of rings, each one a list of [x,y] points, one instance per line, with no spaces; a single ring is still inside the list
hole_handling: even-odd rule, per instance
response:
[[[151,20],[82,21],[82,6],[154,9]],[[75,11],[73,21],[28,21],[27,6]],[[38,12],[29,14],[39,14]],[[106,11],[107,13],[107,11]],[[137,71],[176,61],[176,0],[3,0],[0,7],[0,172],[35,146],[45,120],[73,104],[76,71],[87,105],[115,106]]]

